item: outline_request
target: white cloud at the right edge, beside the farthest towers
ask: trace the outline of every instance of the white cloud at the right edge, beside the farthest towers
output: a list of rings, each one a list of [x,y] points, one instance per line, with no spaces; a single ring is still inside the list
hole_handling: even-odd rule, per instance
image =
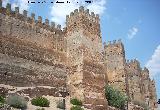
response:
[[[153,78],[160,74],[160,45],[154,51],[152,57],[145,65],[150,70],[150,76]]]

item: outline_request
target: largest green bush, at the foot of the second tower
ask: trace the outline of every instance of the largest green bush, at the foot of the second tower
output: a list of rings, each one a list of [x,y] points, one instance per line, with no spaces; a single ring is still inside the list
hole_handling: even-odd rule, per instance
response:
[[[124,95],[123,93],[121,93],[120,91],[107,85],[105,87],[105,95],[108,100],[108,104],[110,106],[113,106],[119,109],[125,108],[125,104],[128,100],[128,97]]]

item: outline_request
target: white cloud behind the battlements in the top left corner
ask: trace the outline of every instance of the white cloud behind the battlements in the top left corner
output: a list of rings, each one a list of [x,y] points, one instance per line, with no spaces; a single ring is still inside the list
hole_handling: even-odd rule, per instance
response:
[[[6,7],[7,3],[11,3],[11,7],[13,10],[15,9],[15,7],[19,7],[20,13],[22,13],[23,10],[29,9],[27,0],[3,0],[3,7]]]

